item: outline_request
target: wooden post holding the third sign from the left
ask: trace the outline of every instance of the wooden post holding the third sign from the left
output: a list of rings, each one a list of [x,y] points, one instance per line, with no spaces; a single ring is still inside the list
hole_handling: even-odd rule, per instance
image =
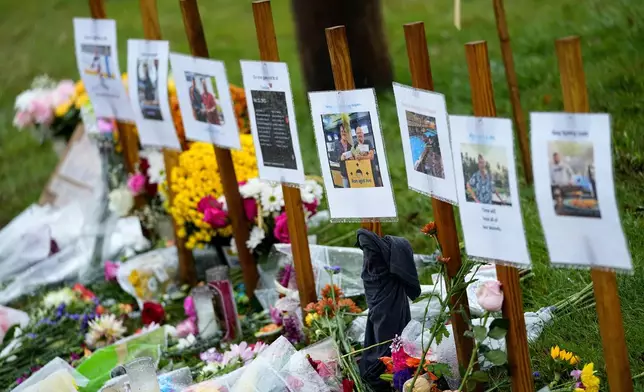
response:
[[[192,55],[204,58],[210,57],[206,37],[203,32],[203,25],[201,24],[197,0],[179,0],[179,5],[181,6],[183,24],[186,35],[188,36],[188,43],[190,44]],[[233,227],[233,235],[235,236],[235,244],[237,245],[239,255],[239,264],[244,275],[246,294],[251,297],[254,295],[255,287],[257,287],[259,274],[257,273],[257,265],[255,264],[253,254],[246,246],[250,225],[246,219],[242,198],[239,194],[239,184],[237,183],[237,175],[235,174],[235,166],[233,165],[230,150],[217,146],[213,147],[215,149],[217,166],[219,167],[221,185],[224,188],[224,196],[226,197],[226,204],[228,205],[228,216]]]

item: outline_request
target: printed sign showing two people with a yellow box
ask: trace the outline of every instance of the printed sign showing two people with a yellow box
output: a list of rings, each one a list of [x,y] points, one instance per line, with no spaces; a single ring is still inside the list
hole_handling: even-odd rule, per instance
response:
[[[332,220],[395,219],[373,89],[309,93]]]

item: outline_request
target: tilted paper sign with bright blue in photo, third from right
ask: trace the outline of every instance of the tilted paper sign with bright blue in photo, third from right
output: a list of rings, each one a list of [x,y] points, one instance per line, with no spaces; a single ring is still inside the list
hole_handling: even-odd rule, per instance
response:
[[[394,83],[409,188],[457,204],[443,94]]]

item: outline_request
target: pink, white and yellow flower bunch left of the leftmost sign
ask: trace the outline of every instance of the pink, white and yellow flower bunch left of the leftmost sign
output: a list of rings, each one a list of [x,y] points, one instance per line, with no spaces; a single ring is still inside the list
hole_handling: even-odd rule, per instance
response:
[[[42,142],[53,136],[69,140],[80,119],[80,109],[89,101],[82,81],[56,82],[47,75],[34,79],[31,88],[16,97],[13,125],[32,129]]]

